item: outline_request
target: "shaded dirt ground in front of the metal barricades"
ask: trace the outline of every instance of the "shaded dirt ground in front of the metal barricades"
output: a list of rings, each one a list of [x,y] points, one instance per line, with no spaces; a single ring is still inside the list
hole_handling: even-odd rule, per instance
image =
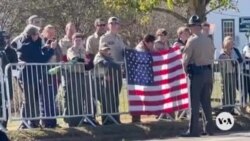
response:
[[[145,139],[165,139],[178,136],[186,131],[188,121],[147,121],[123,123],[122,125],[82,126],[78,128],[32,129],[9,131],[12,141],[132,141]],[[200,124],[201,125],[201,124]],[[202,129],[202,128],[201,128]],[[230,132],[249,131],[250,119],[236,117]],[[215,133],[221,133],[215,128]]]

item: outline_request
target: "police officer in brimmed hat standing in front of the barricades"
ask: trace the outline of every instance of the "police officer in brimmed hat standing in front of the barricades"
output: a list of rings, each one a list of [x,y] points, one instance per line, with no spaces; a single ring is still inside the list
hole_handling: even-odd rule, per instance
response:
[[[188,39],[183,51],[183,66],[190,79],[191,121],[189,131],[184,137],[199,137],[200,103],[206,117],[206,132],[212,135],[212,64],[214,45],[206,35],[201,33],[201,21],[198,16],[189,19],[188,26],[192,36]]]

